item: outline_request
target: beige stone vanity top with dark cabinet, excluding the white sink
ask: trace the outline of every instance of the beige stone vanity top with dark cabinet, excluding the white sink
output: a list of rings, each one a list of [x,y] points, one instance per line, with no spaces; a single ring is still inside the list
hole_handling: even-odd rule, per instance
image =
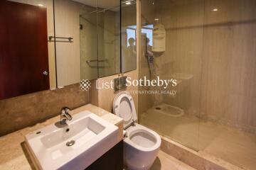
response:
[[[93,113],[92,118],[100,117],[100,119],[106,121],[107,123],[115,125],[115,134],[112,136],[112,147],[105,149],[105,153],[97,154],[97,159],[90,164],[87,164],[85,169],[122,169],[122,157],[123,157],[123,120],[112,113],[109,113],[102,108],[98,108],[91,104],[87,104],[80,108],[77,108],[73,111],[70,111],[70,114],[73,115],[73,118],[79,117],[79,113]],[[77,116],[76,116],[77,115]],[[38,123],[33,127],[23,128],[16,132],[10,133],[0,137],[0,144],[4,147],[0,149],[0,169],[41,169],[38,164],[36,164],[36,159],[31,152],[31,149],[28,149],[28,145],[25,140],[27,134],[32,132],[37,132],[38,130],[43,130],[49,125],[59,121],[59,115],[46,120],[43,123]],[[107,142],[107,141],[105,141]],[[100,147],[100,146],[98,146]],[[85,158],[85,162],[88,162],[92,155],[89,155]],[[88,159],[87,159],[88,158]]]

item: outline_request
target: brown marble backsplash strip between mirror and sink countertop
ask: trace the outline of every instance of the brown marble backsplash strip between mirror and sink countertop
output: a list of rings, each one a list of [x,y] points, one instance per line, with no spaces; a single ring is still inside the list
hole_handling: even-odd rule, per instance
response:
[[[79,84],[1,100],[0,136],[52,118],[63,106],[73,109],[86,103],[89,93],[81,91]]]

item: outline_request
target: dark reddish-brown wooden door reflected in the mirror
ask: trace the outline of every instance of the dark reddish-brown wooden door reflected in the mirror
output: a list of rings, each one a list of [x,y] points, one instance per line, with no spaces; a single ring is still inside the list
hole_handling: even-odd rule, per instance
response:
[[[46,8],[0,1],[0,100],[49,89]]]

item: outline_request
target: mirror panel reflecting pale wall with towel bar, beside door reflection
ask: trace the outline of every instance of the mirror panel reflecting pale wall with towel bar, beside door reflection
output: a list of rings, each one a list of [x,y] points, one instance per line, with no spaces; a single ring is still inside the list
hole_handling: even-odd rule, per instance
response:
[[[97,79],[95,6],[96,0],[54,0],[58,86]]]

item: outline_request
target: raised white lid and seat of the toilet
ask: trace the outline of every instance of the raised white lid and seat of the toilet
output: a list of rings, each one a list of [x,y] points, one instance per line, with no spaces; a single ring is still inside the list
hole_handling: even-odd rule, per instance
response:
[[[128,128],[132,120],[137,120],[137,114],[132,96],[123,91],[114,98],[113,102],[114,114],[124,119],[124,129]]]

